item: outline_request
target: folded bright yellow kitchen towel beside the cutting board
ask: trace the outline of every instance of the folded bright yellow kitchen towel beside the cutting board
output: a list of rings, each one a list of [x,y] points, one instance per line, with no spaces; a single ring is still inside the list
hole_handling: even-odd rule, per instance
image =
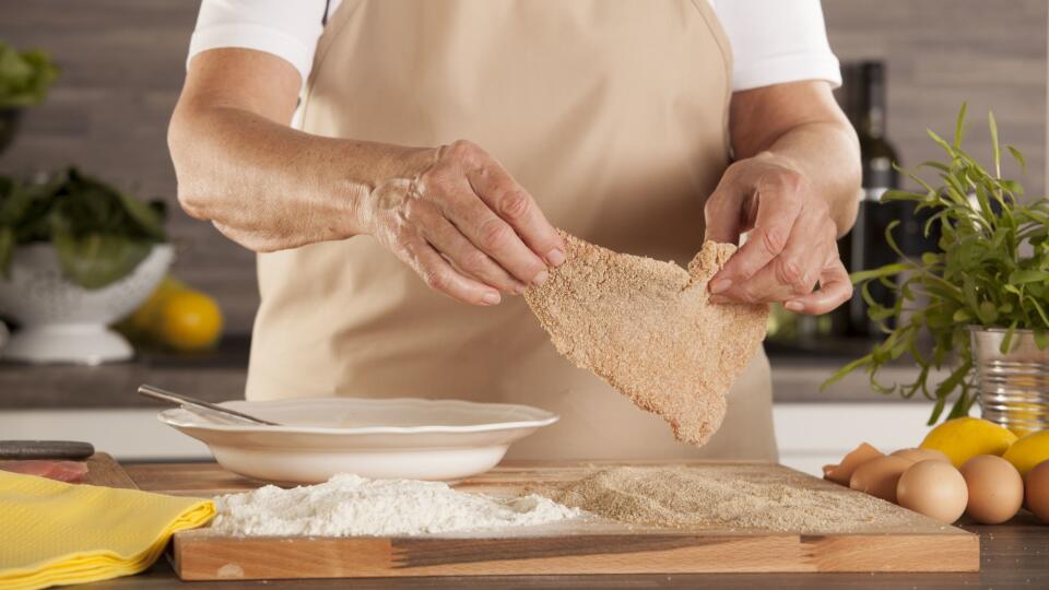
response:
[[[0,589],[138,574],[175,531],[214,515],[211,500],[0,471]]]

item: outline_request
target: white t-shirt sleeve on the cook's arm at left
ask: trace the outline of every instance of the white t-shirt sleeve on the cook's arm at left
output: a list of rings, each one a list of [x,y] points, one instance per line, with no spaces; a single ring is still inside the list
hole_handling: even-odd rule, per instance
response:
[[[298,70],[303,83],[323,32],[326,0],[203,0],[189,58],[208,49],[241,47],[273,54]]]

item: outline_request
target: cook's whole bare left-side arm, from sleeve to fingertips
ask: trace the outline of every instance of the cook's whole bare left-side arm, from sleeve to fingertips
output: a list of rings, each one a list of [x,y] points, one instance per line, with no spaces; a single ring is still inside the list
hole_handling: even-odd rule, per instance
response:
[[[405,148],[287,127],[302,78],[264,51],[202,51],[168,131],[178,198],[257,251],[368,234],[435,291],[473,305],[541,284],[565,244],[481,146]]]

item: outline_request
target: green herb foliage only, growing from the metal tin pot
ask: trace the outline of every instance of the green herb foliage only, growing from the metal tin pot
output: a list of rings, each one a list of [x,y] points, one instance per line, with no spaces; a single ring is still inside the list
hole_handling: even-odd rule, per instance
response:
[[[951,143],[929,130],[929,137],[945,152],[943,162],[928,162],[917,170],[897,166],[923,192],[892,190],[883,201],[910,201],[917,211],[932,213],[926,236],[940,229],[938,250],[918,260],[905,256],[893,239],[893,223],[885,238],[900,262],[853,273],[870,305],[868,315],[880,322],[885,340],[870,354],[841,367],[826,388],[852,370],[862,368],[872,387],[882,393],[905,398],[917,391],[935,400],[929,424],[934,424],[953,399],[947,417],[968,413],[975,401],[976,376],[970,351],[969,328],[1002,328],[1007,334],[1002,351],[1010,350],[1016,330],[1032,330],[1040,347],[1049,343],[1049,199],[1021,201],[1023,186],[1002,178],[1002,154],[994,116],[988,117],[991,137],[991,169],[988,172],[962,149],[965,105],[958,114]],[[1006,152],[1026,170],[1023,154],[1012,145]],[[932,170],[939,186],[921,178]],[[879,281],[896,293],[896,303],[886,307],[870,297],[869,285]],[[919,305],[919,302],[922,302]],[[889,318],[895,327],[889,328]],[[931,350],[921,343],[931,339]],[[877,374],[885,364],[911,357],[920,368],[909,384],[885,386]],[[948,368],[948,376],[930,384],[930,369]]]

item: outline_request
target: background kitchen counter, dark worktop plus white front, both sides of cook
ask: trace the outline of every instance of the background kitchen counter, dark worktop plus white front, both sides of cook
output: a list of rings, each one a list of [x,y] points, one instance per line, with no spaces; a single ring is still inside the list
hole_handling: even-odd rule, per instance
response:
[[[886,449],[921,440],[931,402],[876,394],[863,373],[820,391],[824,379],[868,346],[766,343],[779,457],[785,464],[818,473],[823,464],[839,460],[861,440]],[[209,458],[207,447],[160,424],[156,412],[163,408],[135,390],[151,384],[210,401],[239,399],[249,347],[247,335],[227,335],[208,353],[145,350],[131,362],[97,367],[0,363],[0,433],[5,438],[87,440],[122,460]],[[885,381],[904,381],[912,379],[917,369],[899,364],[884,373]],[[896,426],[884,428],[883,424]]]

